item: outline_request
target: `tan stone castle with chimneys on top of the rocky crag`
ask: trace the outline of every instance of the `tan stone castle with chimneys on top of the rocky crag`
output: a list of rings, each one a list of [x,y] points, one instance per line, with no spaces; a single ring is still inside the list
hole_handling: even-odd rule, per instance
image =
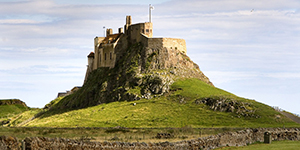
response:
[[[99,67],[114,68],[123,52],[134,43],[141,43],[150,49],[168,48],[186,54],[184,39],[153,38],[152,22],[132,24],[131,16],[126,16],[126,24],[113,34],[112,29],[106,30],[106,37],[94,38],[94,52],[88,57],[85,81],[88,75]]]

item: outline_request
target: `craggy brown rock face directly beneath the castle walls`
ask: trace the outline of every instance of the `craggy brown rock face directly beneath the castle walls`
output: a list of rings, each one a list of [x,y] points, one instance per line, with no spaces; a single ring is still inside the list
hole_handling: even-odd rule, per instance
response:
[[[65,97],[52,109],[78,109],[114,101],[151,99],[168,93],[170,85],[182,78],[198,78],[213,86],[185,53],[135,43],[120,54],[114,68],[94,70],[78,92]]]

